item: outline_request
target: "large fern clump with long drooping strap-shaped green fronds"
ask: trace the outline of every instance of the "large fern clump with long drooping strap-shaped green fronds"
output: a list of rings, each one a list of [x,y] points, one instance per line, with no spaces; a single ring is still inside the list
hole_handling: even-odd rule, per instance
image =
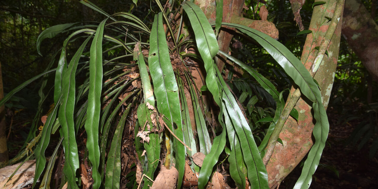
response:
[[[222,8],[217,9],[214,31],[201,9],[190,1],[171,1],[176,7],[169,9],[159,0],[152,2],[160,9],[150,13],[154,15],[152,23],[129,12],[109,15],[87,0],[81,3],[106,18],[96,25],[68,23],[43,31],[38,50],[43,39],[70,33],[56,54],[60,54],[58,61],[53,58],[44,73],[11,91],[0,103],[43,78],[39,111],[28,137],[33,142],[11,161],[36,158],[33,186],[40,179],[40,188],[50,188],[54,166],[61,168],[55,165],[59,160],[64,161],[63,172],[54,184],[61,187],[67,183],[69,188],[91,184],[94,189],[120,188],[127,182],[130,188],[149,188],[157,183],[159,172],[172,170],[177,188],[187,187],[183,186],[187,172],[196,174],[198,179],[192,181],[204,188],[218,172],[217,166],[227,163],[226,171],[239,188],[269,188],[265,166],[277,141],[285,140],[278,136],[289,114],[297,119],[293,107],[301,95],[312,103],[315,140],[295,188],[310,186],[327,138],[328,119],[313,75],[284,45],[256,29],[222,22]],[[223,6],[222,1],[216,4]],[[288,102],[270,80],[219,50],[216,34],[223,27],[235,28],[256,40],[276,60],[274,64],[297,86]],[[76,51],[67,53],[71,44],[78,43]],[[235,98],[223,70],[214,62],[220,55],[271,95],[275,103],[272,111],[255,107],[253,94],[242,97],[246,107],[239,103],[240,97]],[[315,62],[315,67],[319,64]],[[49,75],[55,77],[54,103],[50,111],[43,112]],[[38,133],[42,115],[46,121]],[[263,134],[255,141],[252,131],[262,122],[267,127],[258,131]],[[45,152],[53,135],[60,141],[47,162]],[[273,149],[267,148],[270,143]],[[64,160],[57,158],[60,145]],[[204,155],[200,164],[195,160],[199,153]],[[129,179],[130,173],[136,175],[135,180]]]

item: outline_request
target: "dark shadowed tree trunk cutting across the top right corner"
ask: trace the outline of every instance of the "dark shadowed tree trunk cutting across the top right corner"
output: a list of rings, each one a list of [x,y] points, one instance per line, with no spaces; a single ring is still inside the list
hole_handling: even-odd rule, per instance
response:
[[[378,26],[361,1],[345,1],[342,35],[378,81]]]

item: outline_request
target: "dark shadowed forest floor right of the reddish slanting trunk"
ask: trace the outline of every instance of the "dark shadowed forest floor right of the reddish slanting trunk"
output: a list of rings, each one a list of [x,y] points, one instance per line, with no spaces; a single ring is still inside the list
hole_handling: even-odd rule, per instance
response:
[[[357,150],[356,146],[346,145],[350,134],[359,124],[358,120],[340,121],[342,116],[327,110],[330,132],[325,145],[320,165],[316,170],[310,189],[370,189],[377,188],[377,155],[369,158],[369,148]],[[365,145],[368,146],[368,145]],[[293,188],[301,174],[298,167],[280,184],[279,189]]]

